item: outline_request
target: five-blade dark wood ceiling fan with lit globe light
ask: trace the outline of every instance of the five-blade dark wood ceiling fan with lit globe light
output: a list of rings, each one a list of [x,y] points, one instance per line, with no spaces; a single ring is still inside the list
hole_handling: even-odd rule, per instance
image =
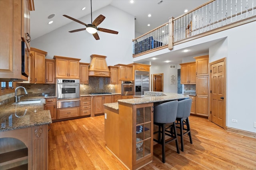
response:
[[[97,31],[102,31],[102,32],[106,32],[106,33],[112,33],[112,34],[118,34],[118,31],[113,31],[111,29],[106,29],[106,28],[98,28],[97,26],[102,23],[102,21],[106,18],[104,17],[103,15],[99,15],[93,22],[92,22],[92,0],[91,0],[91,23],[90,24],[86,24],[86,23],[83,23],[82,21],[79,21],[79,20],[76,20],[75,18],[72,18],[70,16],[67,16],[67,15],[63,15],[64,17],[66,18],[69,18],[70,20],[73,20],[73,21],[76,21],[78,23],[81,23],[82,25],[85,25],[86,27],[85,28],[81,28],[81,29],[75,29],[75,30],[72,30],[72,31],[68,31],[70,33],[74,33],[74,32],[77,32],[77,31],[84,31],[86,30],[88,33],[91,33],[94,38],[96,40],[99,40],[100,37],[97,33]]]

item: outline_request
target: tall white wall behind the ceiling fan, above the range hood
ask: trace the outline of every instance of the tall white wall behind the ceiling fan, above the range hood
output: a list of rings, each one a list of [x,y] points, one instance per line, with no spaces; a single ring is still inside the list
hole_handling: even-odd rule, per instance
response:
[[[57,55],[78,58],[82,63],[90,63],[90,55],[97,54],[107,56],[108,65],[132,63],[134,16],[113,6],[106,6],[92,14],[93,20],[100,14],[106,18],[98,27],[118,31],[118,35],[98,31],[100,40],[95,40],[93,35],[87,31],[69,33],[68,31],[83,28],[82,24],[72,21],[32,40],[31,47],[47,51],[47,59],[52,59],[54,55]],[[85,23],[91,21],[90,15],[78,20]]]

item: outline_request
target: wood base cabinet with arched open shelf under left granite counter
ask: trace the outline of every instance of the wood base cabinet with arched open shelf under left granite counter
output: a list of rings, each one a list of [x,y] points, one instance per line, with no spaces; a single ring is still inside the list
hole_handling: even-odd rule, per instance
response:
[[[48,170],[48,125],[0,132],[0,169]]]

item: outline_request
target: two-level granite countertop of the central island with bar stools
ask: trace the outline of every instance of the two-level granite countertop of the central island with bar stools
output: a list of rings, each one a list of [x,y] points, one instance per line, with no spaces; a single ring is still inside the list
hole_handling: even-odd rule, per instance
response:
[[[164,102],[168,100],[178,100],[189,98],[188,95],[177,94],[177,93],[165,93],[165,92],[144,92],[145,95],[134,96],[138,98],[134,99],[121,99],[118,100],[118,103],[125,103],[125,104],[146,104],[146,103],[154,103],[154,102]],[[108,103],[104,104],[104,106],[113,108],[118,110],[118,103]]]

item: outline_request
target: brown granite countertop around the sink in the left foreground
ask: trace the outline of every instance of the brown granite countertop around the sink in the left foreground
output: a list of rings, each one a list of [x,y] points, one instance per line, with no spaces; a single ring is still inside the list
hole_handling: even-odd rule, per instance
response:
[[[0,132],[52,123],[49,110],[44,110],[45,98],[55,96],[23,97],[24,100],[41,100],[34,104],[16,104],[12,102],[0,106]]]

